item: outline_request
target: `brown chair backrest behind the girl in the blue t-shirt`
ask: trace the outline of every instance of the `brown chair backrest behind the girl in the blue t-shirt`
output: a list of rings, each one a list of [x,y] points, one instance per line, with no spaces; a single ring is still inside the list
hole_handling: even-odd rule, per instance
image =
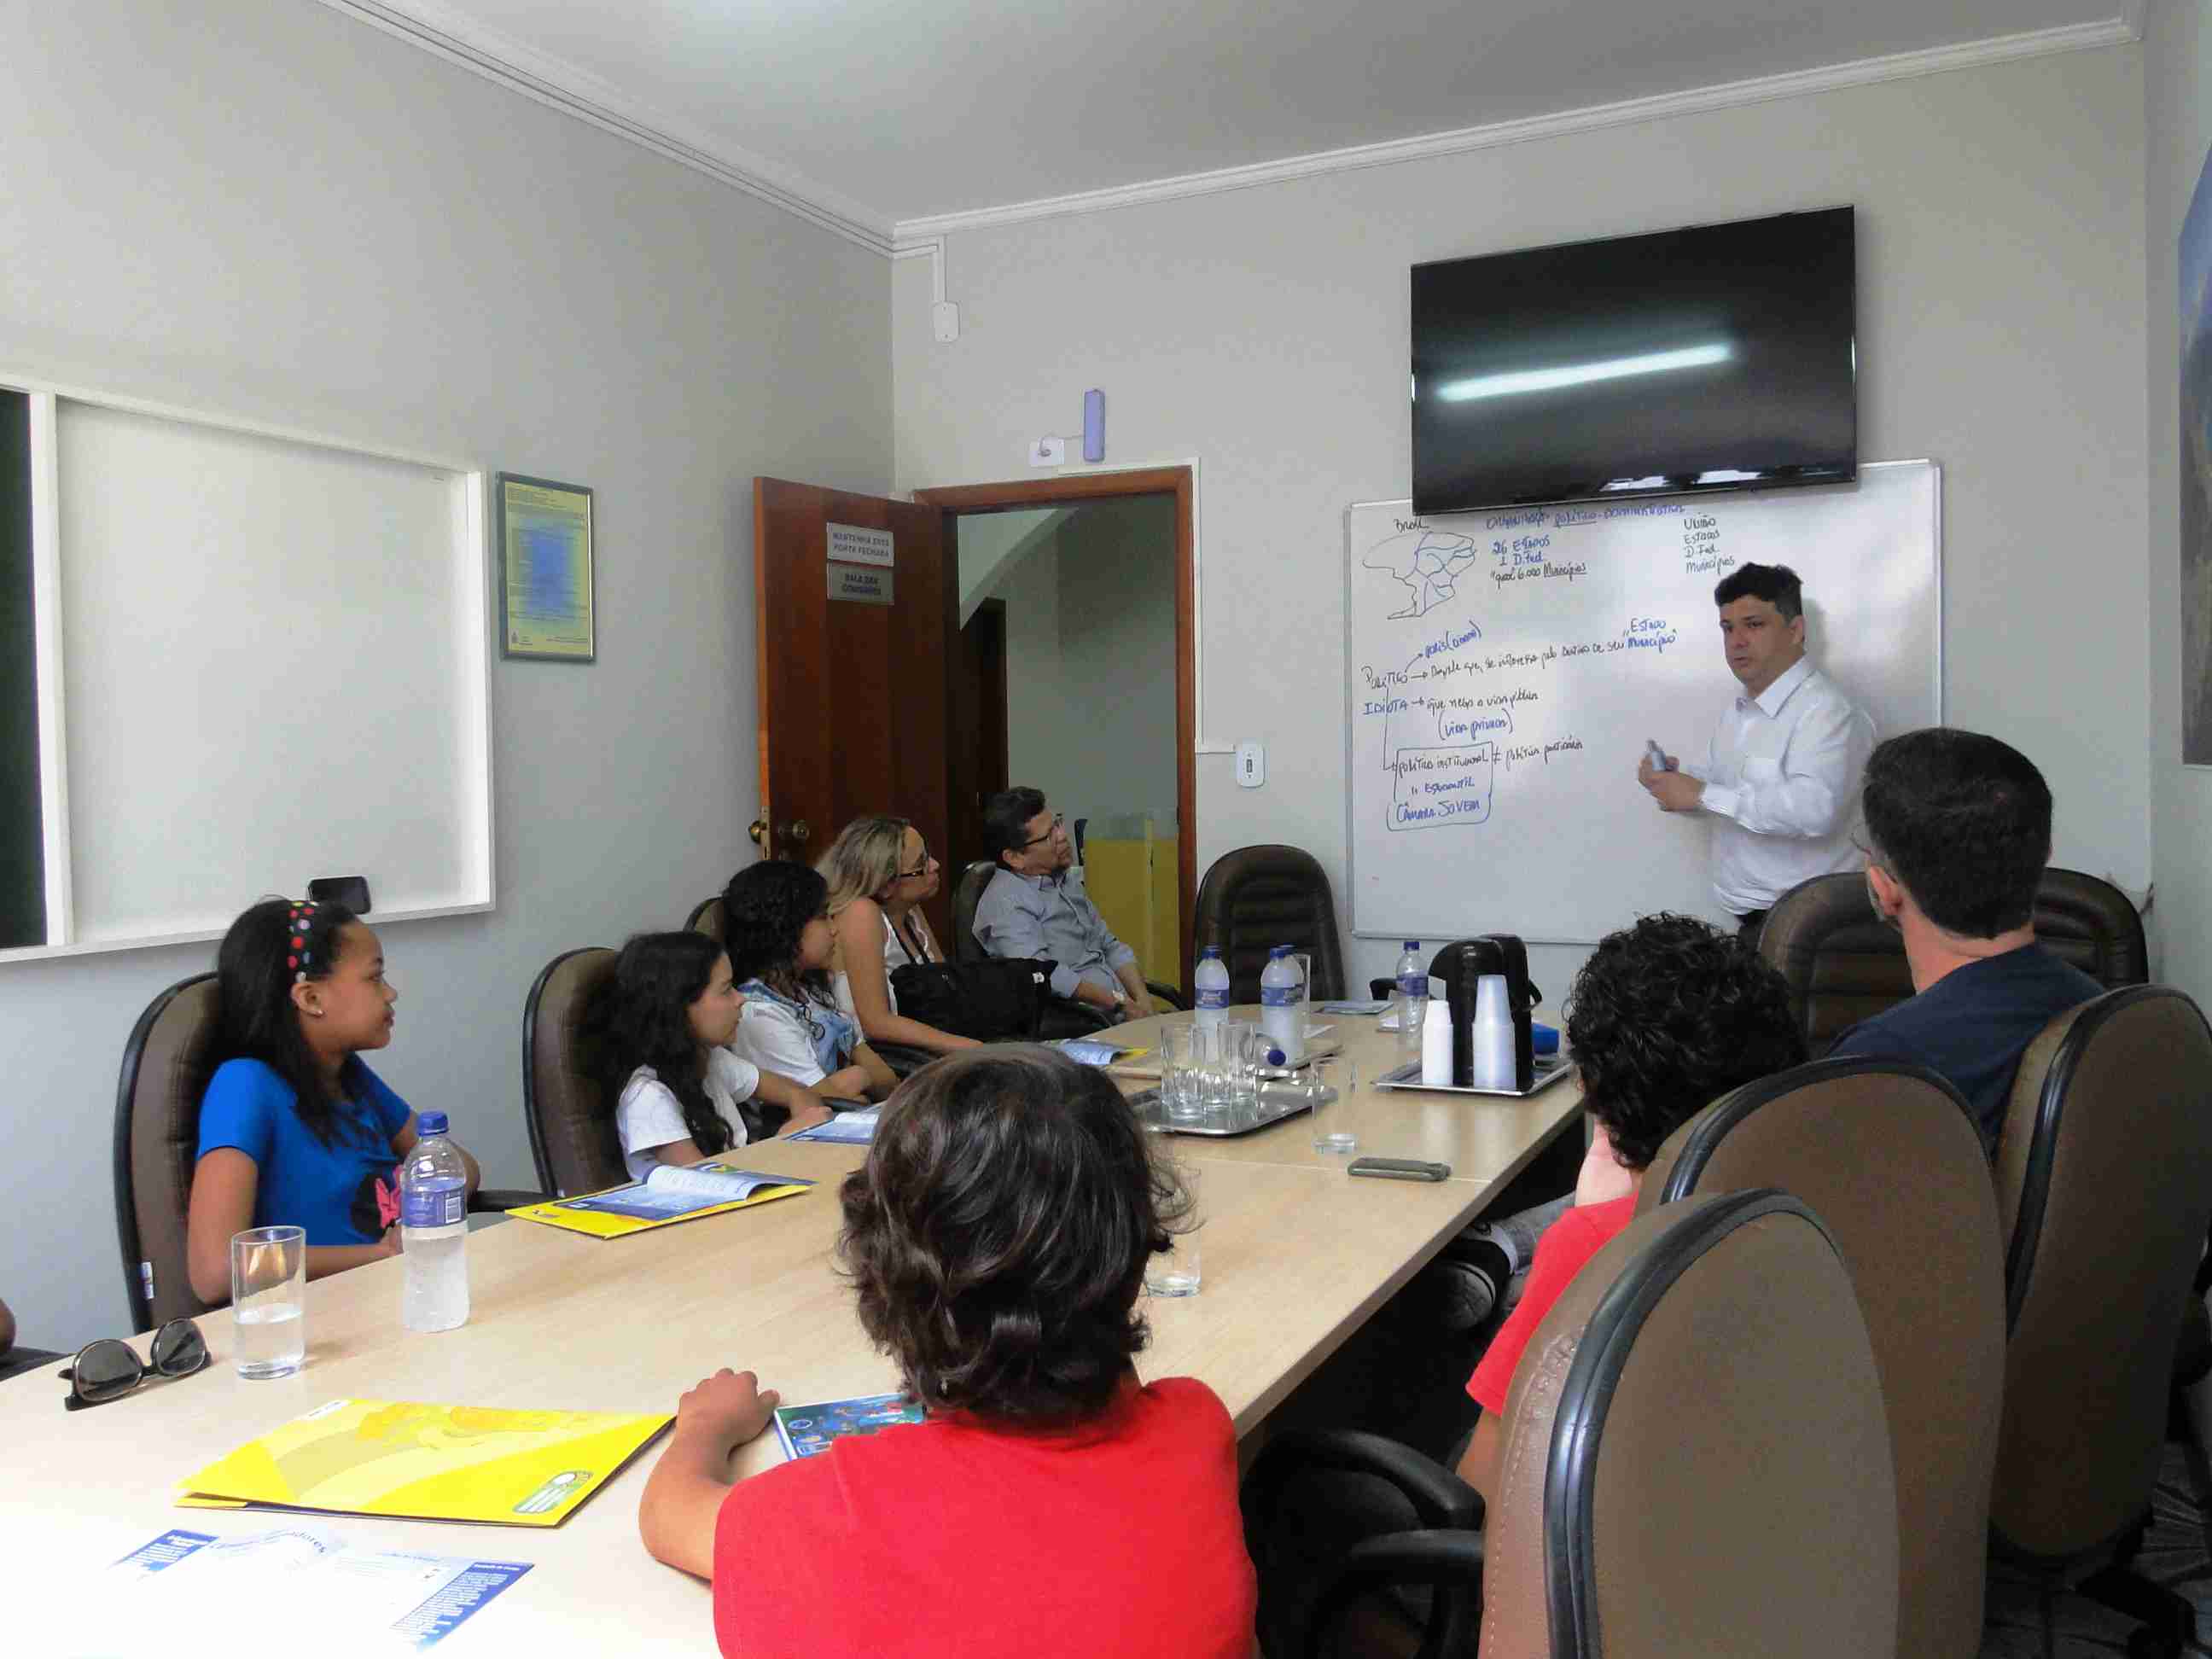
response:
[[[204,1314],[186,1265],[184,1219],[199,1159],[199,1093],[215,1042],[212,973],[177,980],[146,1004],[115,1084],[115,1230],[131,1329]]]

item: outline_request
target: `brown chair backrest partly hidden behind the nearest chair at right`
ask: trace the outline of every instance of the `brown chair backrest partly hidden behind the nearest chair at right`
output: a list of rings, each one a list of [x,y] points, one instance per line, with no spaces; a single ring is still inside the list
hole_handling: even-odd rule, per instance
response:
[[[1816,1060],[1677,1128],[1637,1210],[1743,1188],[1820,1217],[1858,1292],[1896,1458],[1896,1652],[1971,1655],[2004,1398],[2004,1252],[1973,1113],[1924,1066]]]

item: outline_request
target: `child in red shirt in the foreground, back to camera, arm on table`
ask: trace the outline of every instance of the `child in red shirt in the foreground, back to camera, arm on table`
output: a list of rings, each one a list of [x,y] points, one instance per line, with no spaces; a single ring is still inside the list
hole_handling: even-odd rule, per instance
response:
[[[1245,1659],[1230,1416],[1133,1369],[1188,1201],[1121,1091],[1048,1048],[947,1055],[841,1197],[860,1327],[927,1418],[732,1486],[779,1396],[728,1369],[684,1396],[637,1524],[712,1579],[721,1650]]]

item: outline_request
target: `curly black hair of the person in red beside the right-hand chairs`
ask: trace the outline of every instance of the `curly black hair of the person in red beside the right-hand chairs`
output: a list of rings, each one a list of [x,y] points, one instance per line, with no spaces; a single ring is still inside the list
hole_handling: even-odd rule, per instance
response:
[[[1783,975],[1668,911],[1597,940],[1568,991],[1566,1042],[1582,1104],[1630,1170],[1728,1091],[1805,1062]]]

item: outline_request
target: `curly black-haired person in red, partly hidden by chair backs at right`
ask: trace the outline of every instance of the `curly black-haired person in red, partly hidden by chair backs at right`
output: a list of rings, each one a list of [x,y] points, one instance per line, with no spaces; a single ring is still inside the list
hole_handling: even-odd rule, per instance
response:
[[[1790,987],[1732,933],[1657,914],[1597,942],[1575,975],[1566,1042],[1593,1121],[1575,1208],[1535,1248],[1528,1287],[1498,1327],[1467,1391],[1482,1407],[1460,1480],[1489,1502],[1506,1389],[1559,1292],[1637,1212],[1659,1146],[1721,1095],[1803,1064]]]

